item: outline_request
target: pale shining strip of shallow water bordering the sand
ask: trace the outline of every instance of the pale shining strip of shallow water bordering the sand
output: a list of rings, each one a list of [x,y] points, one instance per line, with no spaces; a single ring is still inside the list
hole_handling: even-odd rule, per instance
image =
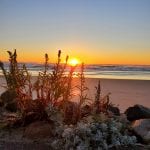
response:
[[[38,76],[41,68],[30,68],[29,72],[32,76]],[[52,70],[49,71],[52,73]],[[68,72],[66,72],[68,73]],[[79,73],[79,69],[73,73],[73,77],[77,77]],[[150,70],[142,71],[139,69],[135,70],[100,70],[100,69],[85,69],[85,77],[87,78],[105,78],[105,79],[136,79],[136,80],[150,80]],[[2,70],[0,70],[0,75],[2,74]]]

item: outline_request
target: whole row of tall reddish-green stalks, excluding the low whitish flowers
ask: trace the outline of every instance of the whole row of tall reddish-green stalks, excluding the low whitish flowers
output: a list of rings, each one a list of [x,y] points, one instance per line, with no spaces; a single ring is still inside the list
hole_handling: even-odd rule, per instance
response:
[[[32,82],[32,75],[29,73],[26,65],[20,66],[18,64],[17,51],[8,51],[8,54],[9,70],[4,68],[2,62],[0,67],[6,79],[8,90],[13,90],[16,93],[17,107],[23,118],[26,118],[30,112],[36,112],[40,119],[42,117],[47,118],[48,115],[45,114],[48,112],[46,110],[49,110],[48,114],[50,114],[50,111],[54,112],[57,110],[62,113],[65,124],[76,124],[84,117],[82,110],[85,107],[89,107],[89,110],[94,112],[94,115],[107,113],[110,105],[110,93],[102,98],[99,81],[96,87],[95,101],[88,98],[88,87],[85,84],[84,77],[84,63],[80,65],[80,71],[77,75],[79,83],[73,87],[73,75],[77,64],[68,65],[69,56],[66,56],[65,63],[62,63],[61,50],[58,51],[57,62],[54,64],[51,72],[49,71],[49,56],[45,54],[43,71],[39,71],[34,82]],[[66,71],[68,66],[69,70]],[[79,91],[79,100],[75,103],[71,101],[74,88]]]

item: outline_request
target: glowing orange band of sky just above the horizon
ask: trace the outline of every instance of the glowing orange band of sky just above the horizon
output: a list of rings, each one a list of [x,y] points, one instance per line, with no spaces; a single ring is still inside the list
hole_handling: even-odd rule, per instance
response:
[[[12,50],[13,51],[13,50]],[[56,62],[57,60],[57,50],[49,52],[49,51],[21,51],[17,50],[18,53],[18,61],[19,62],[36,62],[42,63],[44,61],[44,54],[48,53],[49,62]],[[85,64],[135,64],[135,65],[149,65],[150,64],[150,52],[147,53],[115,53],[111,54],[108,51],[102,51],[100,53],[92,53],[83,50],[79,51],[63,51],[62,50],[62,62],[65,61],[66,55],[69,55],[69,58],[78,58],[81,62]],[[0,60],[7,61],[8,54],[6,50],[0,52]]]

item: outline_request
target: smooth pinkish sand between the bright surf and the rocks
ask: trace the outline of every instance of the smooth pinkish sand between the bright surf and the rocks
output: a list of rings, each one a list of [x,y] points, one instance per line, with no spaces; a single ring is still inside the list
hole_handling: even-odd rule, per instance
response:
[[[75,79],[75,82],[77,79]],[[89,88],[88,96],[94,99],[95,86],[99,79],[87,78],[86,85]],[[122,79],[100,79],[102,94],[111,92],[110,100],[113,104],[119,105],[121,112],[129,106],[141,104],[150,107],[150,81],[147,80],[122,80]],[[5,85],[5,80],[0,77],[0,86]],[[5,91],[0,87],[0,94]]]

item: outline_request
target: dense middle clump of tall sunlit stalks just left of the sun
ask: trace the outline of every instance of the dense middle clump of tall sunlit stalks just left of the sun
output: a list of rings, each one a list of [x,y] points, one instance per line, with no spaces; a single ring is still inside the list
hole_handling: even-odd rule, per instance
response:
[[[53,71],[48,72],[48,54],[45,54],[44,71],[39,72],[34,90],[37,100],[41,101],[44,107],[58,108],[63,112],[64,121],[67,119],[68,107],[72,97],[72,79],[75,67],[66,72],[69,57],[66,56],[65,63],[61,63],[61,50],[58,51],[57,62]],[[49,109],[50,110],[50,109]]]

